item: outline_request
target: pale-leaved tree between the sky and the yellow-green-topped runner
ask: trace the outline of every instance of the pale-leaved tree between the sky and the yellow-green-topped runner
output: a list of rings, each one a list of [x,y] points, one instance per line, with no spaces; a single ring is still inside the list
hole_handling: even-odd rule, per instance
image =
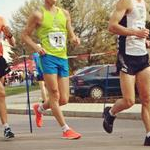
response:
[[[12,15],[12,21],[10,23],[11,23],[11,26],[13,29],[13,34],[15,36],[16,45],[17,45],[17,47],[14,48],[14,54],[12,55],[12,57],[14,58],[14,63],[18,63],[18,61],[21,61],[19,59],[19,57],[23,53],[22,49],[23,49],[24,45],[21,41],[20,36],[21,36],[21,32],[22,32],[23,28],[26,25],[27,19],[28,19],[29,15],[32,13],[32,11],[34,11],[41,5],[42,5],[42,0],[26,1],[24,6],[22,6],[18,11],[16,11]],[[33,38],[36,39],[35,34],[33,35]],[[25,48],[25,49],[27,49],[27,48]],[[26,51],[26,53],[30,54],[29,51]]]

